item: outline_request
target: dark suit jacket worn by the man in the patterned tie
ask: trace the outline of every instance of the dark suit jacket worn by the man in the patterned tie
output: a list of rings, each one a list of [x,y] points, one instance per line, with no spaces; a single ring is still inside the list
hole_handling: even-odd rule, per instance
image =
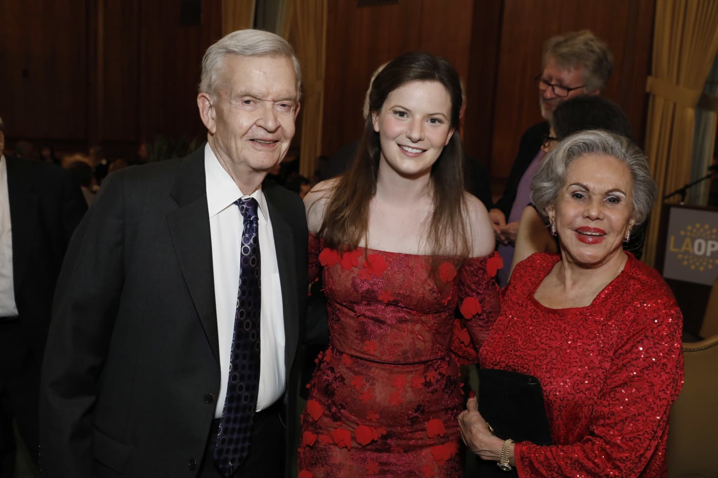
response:
[[[220,389],[203,151],[108,176],[70,244],[43,369],[46,477],[197,472]],[[304,327],[307,223],[296,194],[262,188],[289,377]]]

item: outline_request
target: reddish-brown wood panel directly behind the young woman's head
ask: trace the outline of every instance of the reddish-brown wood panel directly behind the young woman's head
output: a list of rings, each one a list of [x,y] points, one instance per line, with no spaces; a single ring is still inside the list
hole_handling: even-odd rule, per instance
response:
[[[473,3],[399,0],[392,5],[357,6],[356,0],[328,2],[322,154],[330,156],[361,136],[364,95],[372,72],[383,62],[424,49],[449,58],[465,75]]]

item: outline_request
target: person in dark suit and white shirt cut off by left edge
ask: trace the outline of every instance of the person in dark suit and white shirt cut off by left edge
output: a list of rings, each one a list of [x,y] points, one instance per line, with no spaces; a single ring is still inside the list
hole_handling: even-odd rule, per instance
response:
[[[37,397],[55,282],[87,211],[57,166],[4,155],[0,118],[0,477],[13,476],[13,419],[37,460]]]

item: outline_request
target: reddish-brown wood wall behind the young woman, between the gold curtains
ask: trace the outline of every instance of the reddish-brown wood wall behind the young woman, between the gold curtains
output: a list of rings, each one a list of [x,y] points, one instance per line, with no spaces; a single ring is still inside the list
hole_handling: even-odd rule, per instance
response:
[[[378,2],[381,3],[381,2]],[[645,129],[655,0],[398,0],[393,5],[329,2],[323,153],[360,137],[373,70],[401,52],[447,57],[467,94],[466,150],[490,168],[497,191],[518,140],[541,120],[533,77],[544,41],[591,29],[615,55],[605,94],[626,111],[639,140]]]

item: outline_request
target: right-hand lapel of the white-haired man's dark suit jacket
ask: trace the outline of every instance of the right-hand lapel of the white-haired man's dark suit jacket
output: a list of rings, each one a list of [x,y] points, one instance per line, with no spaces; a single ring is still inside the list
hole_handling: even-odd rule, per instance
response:
[[[272,193],[274,186],[264,188],[264,198],[269,207],[269,218],[274,234],[276,262],[279,267],[279,284],[281,285],[281,303],[284,315],[284,365],[286,378],[292,367],[294,353],[297,352],[299,323],[297,320],[297,271],[294,262],[294,234],[292,228],[281,214],[281,203]]]

